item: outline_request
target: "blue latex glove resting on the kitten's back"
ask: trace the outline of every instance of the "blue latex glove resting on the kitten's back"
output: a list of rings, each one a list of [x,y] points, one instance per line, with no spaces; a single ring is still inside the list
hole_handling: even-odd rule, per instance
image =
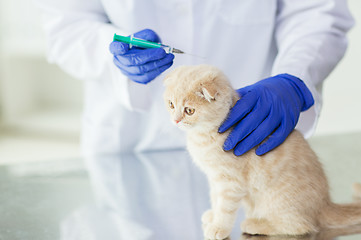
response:
[[[241,99],[231,109],[228,118],[219,128],[223,133],[234,127],[223,149],[234,149],[239,156],[256,147],[263,155],[278,145],[295,128],[300,113],[310,108],[313,97],[299,78],[280,74],[237,90]]]

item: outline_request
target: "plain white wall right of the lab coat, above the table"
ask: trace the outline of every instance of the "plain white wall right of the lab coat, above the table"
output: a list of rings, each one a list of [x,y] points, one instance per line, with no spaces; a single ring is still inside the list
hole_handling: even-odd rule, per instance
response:
[[[349,48],[324,84],[324,106],[316,135],[361,132],[361,1],[349,0],[356,20]]]

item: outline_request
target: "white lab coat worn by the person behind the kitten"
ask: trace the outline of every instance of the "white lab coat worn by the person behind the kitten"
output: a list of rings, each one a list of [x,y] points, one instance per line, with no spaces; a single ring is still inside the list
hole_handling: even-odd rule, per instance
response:
[[[280,73],[301,78],[315,99],[297,125],[308,137],[321,110],[322,82],[344,55],[345,34],[353,25],[346,0],[42,0],[40,5],[48,59],[86,80],[86,153],[185,146],[184,133],[170,123],[164,107],[164,75],[148,85],[122,75],[108,50],[114,33],[150,28],[164,43],[205,57],[176,55],[172,68],[212,64],[234,88]]]

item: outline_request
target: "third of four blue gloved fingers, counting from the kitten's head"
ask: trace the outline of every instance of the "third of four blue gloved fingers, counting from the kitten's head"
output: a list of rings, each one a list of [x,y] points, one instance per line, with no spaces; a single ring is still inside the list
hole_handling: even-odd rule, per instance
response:
[[[243,139],[242,142],[237,144],[234,148],[234,154],[236,156],[240,156],[262,143],[262,141],[272,134],[279,124],[280,120],[278,118],[273,118],[272,114],[269,114],[268,117],[252,133]]]

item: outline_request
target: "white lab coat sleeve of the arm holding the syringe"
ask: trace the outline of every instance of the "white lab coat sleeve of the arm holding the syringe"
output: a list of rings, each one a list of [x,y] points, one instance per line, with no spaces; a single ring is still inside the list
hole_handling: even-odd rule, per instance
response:
[[[110,23],[98,0],[38,0],[43,13],[47,58],[70,75],[87,81],[110,81],[114,96],[131,110],[144,86],[127,79],[113,63],[109,44],[114,33],[129,33]]]

